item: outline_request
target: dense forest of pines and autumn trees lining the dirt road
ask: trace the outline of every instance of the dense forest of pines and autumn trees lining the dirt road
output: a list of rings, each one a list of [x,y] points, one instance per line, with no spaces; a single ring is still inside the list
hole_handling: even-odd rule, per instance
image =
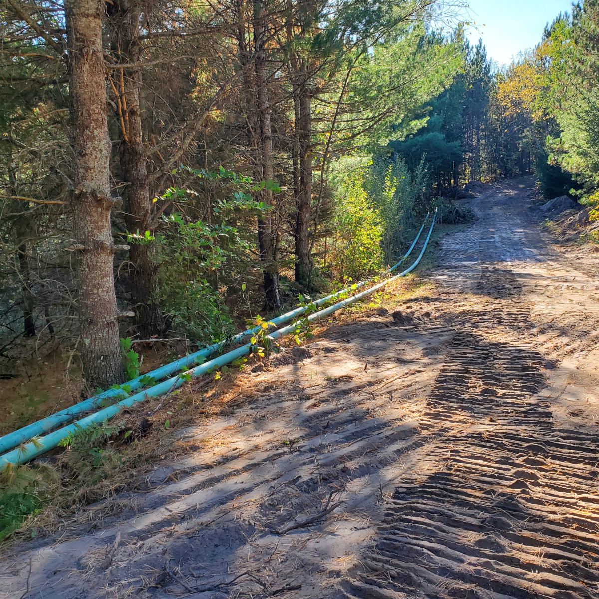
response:
[[[599,203],[599,5],[492,65],[437,0],[6,0],[0,370],[86,392],[392,264],[469,181]],[[564,85],[564,81],[568,81]]]

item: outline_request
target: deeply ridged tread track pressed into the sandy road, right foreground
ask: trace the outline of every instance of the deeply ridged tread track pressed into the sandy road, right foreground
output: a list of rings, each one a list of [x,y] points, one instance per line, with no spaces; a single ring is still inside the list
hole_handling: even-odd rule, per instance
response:
[[[482,264],[474,294],[489,301],[462,311],[428,395],[428,432],[450,431],[434,471],[403,477],[346,599],[599,596],[599,435],[556,426],[536,397],[547,362],[521,343],[512,271]]]

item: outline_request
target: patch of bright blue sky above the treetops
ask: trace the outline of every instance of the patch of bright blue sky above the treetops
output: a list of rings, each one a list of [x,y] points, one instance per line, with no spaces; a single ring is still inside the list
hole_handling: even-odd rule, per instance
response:
[[[468,38],[473,43],[482,38],[489,58],[501,64],[536,46],[545,24],[559,11],[570,12],[571,0],[470,0],[469,4],[469,20],[476,22],[478,31],[470,29]]]

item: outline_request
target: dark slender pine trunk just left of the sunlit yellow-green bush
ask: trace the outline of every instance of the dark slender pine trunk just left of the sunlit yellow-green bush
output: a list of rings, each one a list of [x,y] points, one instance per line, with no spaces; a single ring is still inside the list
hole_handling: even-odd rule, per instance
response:
[[[312,204],[312,98],[310,90],[299,86],[299,186],[295,195],[295,280],[311,286],[313,262],[310,256],[310,208]]]

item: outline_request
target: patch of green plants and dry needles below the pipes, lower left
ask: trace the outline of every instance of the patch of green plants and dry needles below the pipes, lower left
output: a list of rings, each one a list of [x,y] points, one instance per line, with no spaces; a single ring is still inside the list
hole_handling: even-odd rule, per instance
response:
[[[164,399],[164,398],[163,398]],[[187,407],[186,407],[187,403]],[[191,421],[187,394],[173,395],[147,418],[144,404],[119,422],[75,428],[60,443],[62,452],[0,475],[0,541],[30,538],[60,528],[85,504],[143,485],[136,479],[172,445],[171,431]]]

